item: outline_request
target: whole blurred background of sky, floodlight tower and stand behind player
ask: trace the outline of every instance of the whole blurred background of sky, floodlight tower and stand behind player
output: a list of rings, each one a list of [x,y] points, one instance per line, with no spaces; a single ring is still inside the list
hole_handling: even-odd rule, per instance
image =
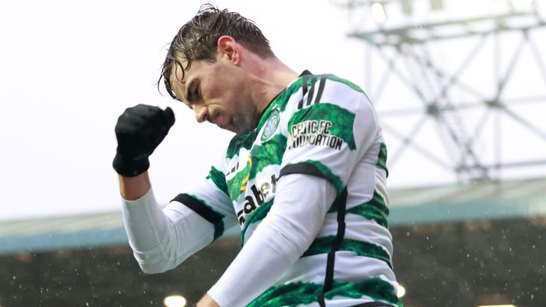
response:
[[[164,274],[127,243],[114,124],[172,107],[151,157],[166,204],[232,134],[156,86],[201,1],[0,3],[0,307],[191,306],[232,230]],[[385,132],[393,263],[407,307],[546,306],[546,1],[215,1],[296,71],[365,90]]]

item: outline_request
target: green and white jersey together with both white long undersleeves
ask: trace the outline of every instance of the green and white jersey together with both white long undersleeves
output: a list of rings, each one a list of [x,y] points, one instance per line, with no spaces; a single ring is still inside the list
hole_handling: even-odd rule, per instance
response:
[[[208,291],[220,306],[402,306],[386,158],[363,90],[304,72],[166,208],[151,191],[125,201],[129,243],[160,272],[238,225],[242,250]]]

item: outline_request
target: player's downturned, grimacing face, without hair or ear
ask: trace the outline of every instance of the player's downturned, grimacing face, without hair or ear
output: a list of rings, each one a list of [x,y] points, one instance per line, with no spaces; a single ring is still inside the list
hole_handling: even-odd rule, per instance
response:
[[[260,112],[252,104],[245,72],[225,55],[215,62],[194,60],[181,77],[181,68],[173,69],[173,91],[193,109],[198,122],[208,121],[236,134],[255,129]]]

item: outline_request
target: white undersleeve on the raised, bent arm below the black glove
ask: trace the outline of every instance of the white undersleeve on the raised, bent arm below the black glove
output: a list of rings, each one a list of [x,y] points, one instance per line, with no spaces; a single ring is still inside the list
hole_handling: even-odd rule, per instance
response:
[[[213,242],[215,227],[182,203],[161,210],[149,190],[137,200],[122,200],[129,245],[142,271],[161,273]]]

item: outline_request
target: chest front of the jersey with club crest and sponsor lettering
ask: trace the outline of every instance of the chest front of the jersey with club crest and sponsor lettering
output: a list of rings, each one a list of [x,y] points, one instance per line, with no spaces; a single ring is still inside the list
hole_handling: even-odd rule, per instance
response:
[[[225,179],[243,243],[267,215],[277,191],[287,131],[282,129],[286,105],[297,95],[275,99],[264,112],[258,128],[236,136],[226,155]]]

